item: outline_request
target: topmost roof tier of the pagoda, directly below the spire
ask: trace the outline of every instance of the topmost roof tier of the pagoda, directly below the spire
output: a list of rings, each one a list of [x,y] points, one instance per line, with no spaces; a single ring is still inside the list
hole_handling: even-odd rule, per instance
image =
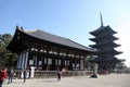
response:
[[[113,30],[109,26],[100,26],[98,29],[90,32],[91,35],[93,36],[101,36],[101,34],[104,33],[110,33],[110,34],[116,34],[117,32]]]

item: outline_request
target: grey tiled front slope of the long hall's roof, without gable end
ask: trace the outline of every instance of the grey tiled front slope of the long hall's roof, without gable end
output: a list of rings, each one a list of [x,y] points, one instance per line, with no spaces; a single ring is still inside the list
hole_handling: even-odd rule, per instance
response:
[[[24,30],[22,30],[22,32],[24,32]],[[50,33],[46,33],[40,29],[34,30],[34,32],[24,32],[24,33],[28,34],[29,36],[36,37],[38,39],[41,39],[41,40],[47,40],[50,42],[54,42],[54,44],[58,44],[58,45],[63,45],[63,46],[72,47],[72,48],[78,48],[78,49],[82,49],[82,50],[93,51],[92,49],[84,47],[78,42],[75,42],[68,38],[52,35]]]

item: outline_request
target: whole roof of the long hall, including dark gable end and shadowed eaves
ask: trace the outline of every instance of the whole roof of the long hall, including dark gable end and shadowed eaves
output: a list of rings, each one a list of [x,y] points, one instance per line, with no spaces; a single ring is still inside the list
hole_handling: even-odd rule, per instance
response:
[[[82,51],[88,51],[88,52],[94,52],[93,49],[84,47],[78,42],[75,42],[68,38],[60,37],[56,35],[52,35],[46,32],[42,32],[40,29],[32,30],[32,32],[26,32],[23,28],[20,28],[16,26],[15,34],[6,47],[6,49],[12,50],[16,52],[16,49],[20,47],[20,45],[23,44],[23,41],[28,41],[28,39],[41,44],[51,44],[55,46],[61,46],[61,47],[66,47],[66,48],[72,48],[72,49],[78,49]]]

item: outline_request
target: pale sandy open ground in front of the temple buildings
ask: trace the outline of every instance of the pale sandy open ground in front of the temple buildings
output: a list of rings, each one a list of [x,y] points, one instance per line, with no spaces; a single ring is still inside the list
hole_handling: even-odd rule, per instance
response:
[[[14,79],[12,84],[3,84],[3,87],[130,87],[130,74],[99,75],[98,78],[89,76],[62,77],[56,78]]]

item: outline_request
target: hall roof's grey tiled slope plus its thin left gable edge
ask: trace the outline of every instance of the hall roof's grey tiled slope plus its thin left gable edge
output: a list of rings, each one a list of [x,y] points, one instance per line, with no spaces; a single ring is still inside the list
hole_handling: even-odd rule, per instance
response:
[[[93,49],[84,47],[84,46],[82,46],[80,44],[77,44],[77,42],[75,42],[70,39],[67,39],[67,38],[55,36],[55,35],[39,30],[39,29],[34,30],[34,32],[25,32],[25,30],[20,29],[20,28],[16,28],[14,37],[13,37],[11,44],[9,44],[9,46],[8,46],[9,49],[11,48],[11,45],[13,44],[13,40],[16,38],[16,33],[17,32],[24,33],[28,36],[31,36],[31,37],[36,38],[36,39],[46,40],[46,41],[49,41],[49,42],[54,42],[54,44],[57,44],[57,45],[84,50],[84,51],[88,51],[88,52],[94,52]],[[42,35],[42,34],[46,34],[46,35]]]

